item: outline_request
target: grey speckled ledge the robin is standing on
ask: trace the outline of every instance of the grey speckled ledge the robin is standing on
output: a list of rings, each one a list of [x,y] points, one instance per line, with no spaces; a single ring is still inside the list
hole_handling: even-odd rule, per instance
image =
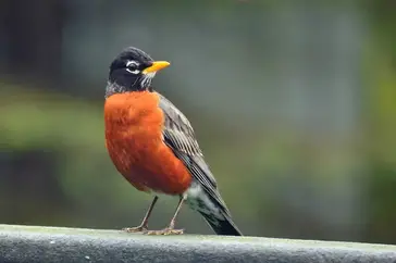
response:
[[[396,246],[0,225],[0,262],[396,263]]]

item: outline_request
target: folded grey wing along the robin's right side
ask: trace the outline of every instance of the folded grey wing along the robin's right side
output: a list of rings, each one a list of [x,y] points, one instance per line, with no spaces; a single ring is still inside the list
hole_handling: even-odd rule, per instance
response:
[[[160,108],[165,123],[163,140],[173,153],[186,165],[193,177],[203,187],[209,197],[228,213],[218,191],[216,181],[203,160],[202,151],[195,138],[194,129],[187,117],[165,97],[160,96]]]

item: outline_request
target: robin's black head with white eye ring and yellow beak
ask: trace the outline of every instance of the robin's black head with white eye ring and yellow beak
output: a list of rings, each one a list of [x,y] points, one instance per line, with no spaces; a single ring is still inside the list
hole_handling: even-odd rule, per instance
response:
[[[169,65],[166,61],[153,61],[143,50],[129,47],[110,65],[106,97],[120,92],[149,90],[157,71]]]

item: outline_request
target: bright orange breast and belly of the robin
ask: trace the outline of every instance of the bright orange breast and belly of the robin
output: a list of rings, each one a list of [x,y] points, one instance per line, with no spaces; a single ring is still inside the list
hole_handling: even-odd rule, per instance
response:
[[[184,192],[191,176],[162,140],[156,92],[115,93],[104,103],[106,146],[117,171],[137,189]]]

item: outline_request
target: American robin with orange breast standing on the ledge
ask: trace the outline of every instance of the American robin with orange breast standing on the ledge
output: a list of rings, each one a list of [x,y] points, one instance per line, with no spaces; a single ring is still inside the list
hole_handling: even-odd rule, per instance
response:
[[[170,65],[128,47],[110,64],[104,95],[106,147],[120,174],[137,190],[153,193],[139,226],[128,233],[180,235],[175,222],[186,203],[200,213],[216,235],[243,236],[222,199],[188,118],[151,83]],[[169,225],[149,230],[160,195],[178,198]]]

